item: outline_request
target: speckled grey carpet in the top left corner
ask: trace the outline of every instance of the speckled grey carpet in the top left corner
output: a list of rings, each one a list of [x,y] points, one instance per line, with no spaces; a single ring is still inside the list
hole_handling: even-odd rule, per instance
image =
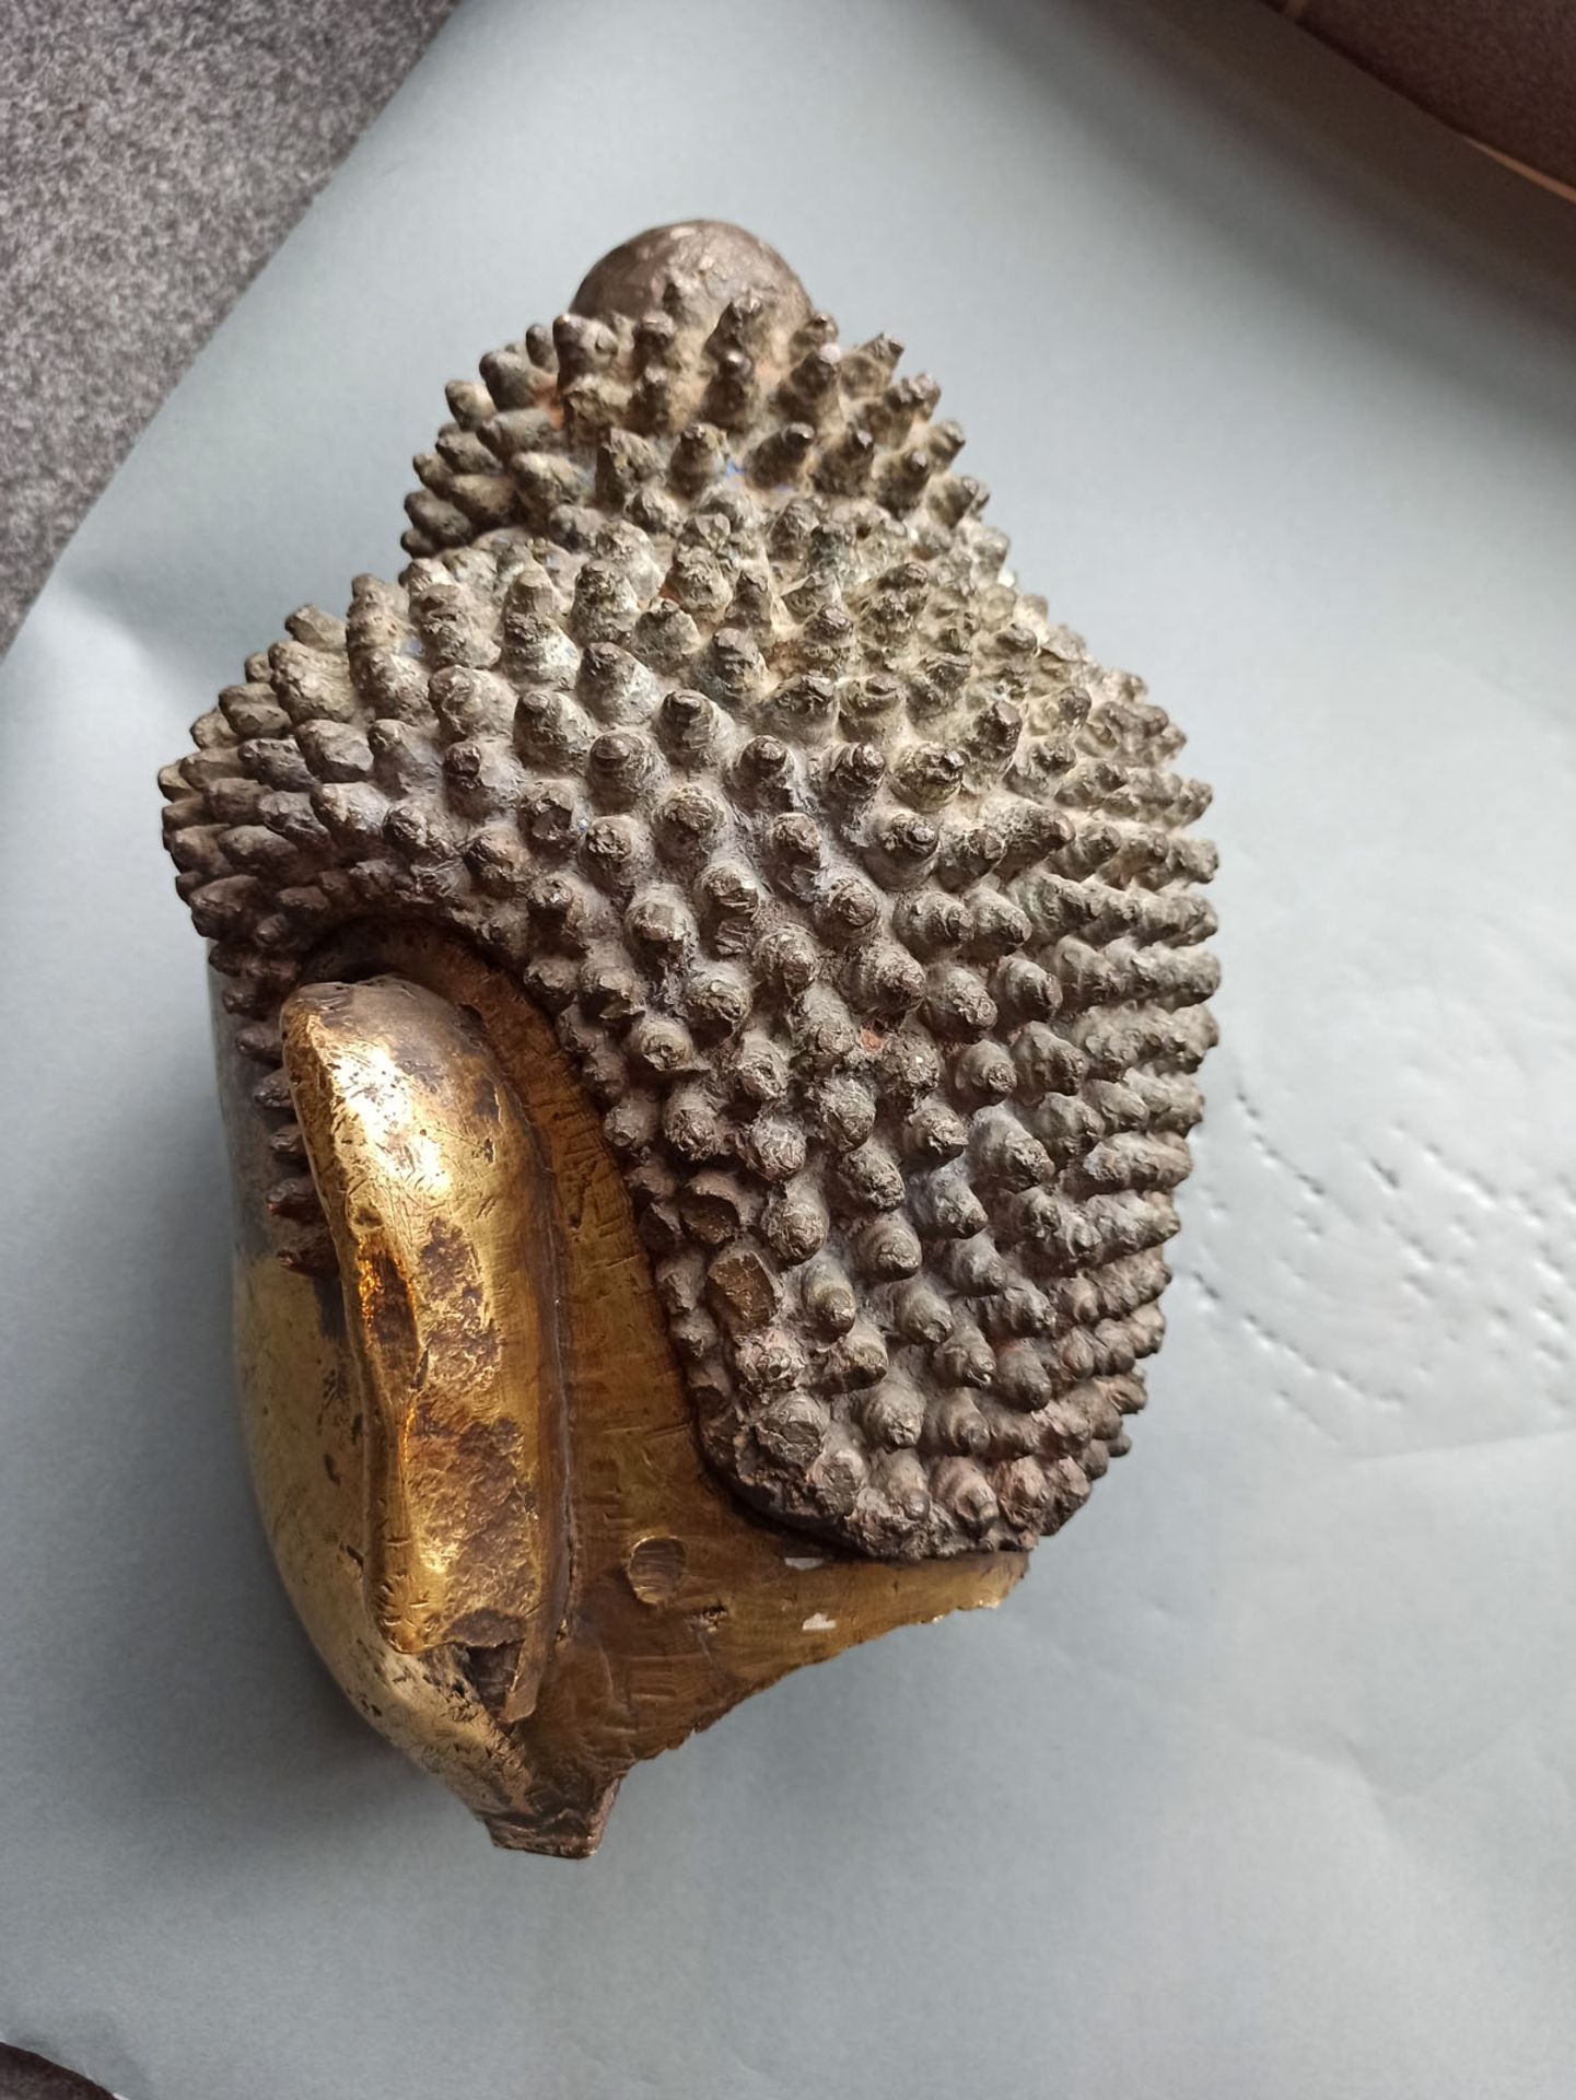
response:
[[[0,649],[455,0],[8,0]]]

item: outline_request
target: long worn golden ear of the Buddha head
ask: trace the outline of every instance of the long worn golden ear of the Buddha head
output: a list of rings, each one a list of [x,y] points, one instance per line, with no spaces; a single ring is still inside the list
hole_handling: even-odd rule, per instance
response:
[[[302,987],[283,1044],[361,1384],[367,1611],[405,1655],[506,1651],[518,1720],[569,1579],[537,1147],[478,1027],[405,979]]]

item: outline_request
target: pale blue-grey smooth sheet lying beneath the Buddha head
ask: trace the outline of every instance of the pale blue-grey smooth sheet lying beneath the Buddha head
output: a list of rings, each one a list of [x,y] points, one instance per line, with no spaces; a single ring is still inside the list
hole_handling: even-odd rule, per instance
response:
[[[275,1588],[153,769],[653,220],[934,370],[1217,783],[1133,1455],[491,1854]],[[466,0],[0,670],[0,2033],[128,2100],[1568,2100],[1576,210],[1249,0]],[[69,445],[69,430],[61,433]]]

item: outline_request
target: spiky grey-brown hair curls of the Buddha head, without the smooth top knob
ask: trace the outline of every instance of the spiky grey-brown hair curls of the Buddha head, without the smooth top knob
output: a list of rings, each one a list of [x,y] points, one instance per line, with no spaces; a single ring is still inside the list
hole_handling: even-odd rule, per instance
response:
[[[1213,1042],[1137,678],[1003,569],[898,344],[693,292],[449,388],[416,556],[193,724],[170,850],[325,1260],[279,1006],[348,920],[546,1008],[619,1155],[714,1466],[888,1558],[1028,1546],[1144,1405]]]

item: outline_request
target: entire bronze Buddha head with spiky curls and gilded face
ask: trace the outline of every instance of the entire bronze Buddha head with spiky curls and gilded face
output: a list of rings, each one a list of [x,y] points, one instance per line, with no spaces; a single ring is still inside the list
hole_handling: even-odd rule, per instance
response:
[[[1005,1596],[1160,1336],[1207,792],[898,355],[739,229],[625,244],[164,777],[275,1556],[523,1850]]]

